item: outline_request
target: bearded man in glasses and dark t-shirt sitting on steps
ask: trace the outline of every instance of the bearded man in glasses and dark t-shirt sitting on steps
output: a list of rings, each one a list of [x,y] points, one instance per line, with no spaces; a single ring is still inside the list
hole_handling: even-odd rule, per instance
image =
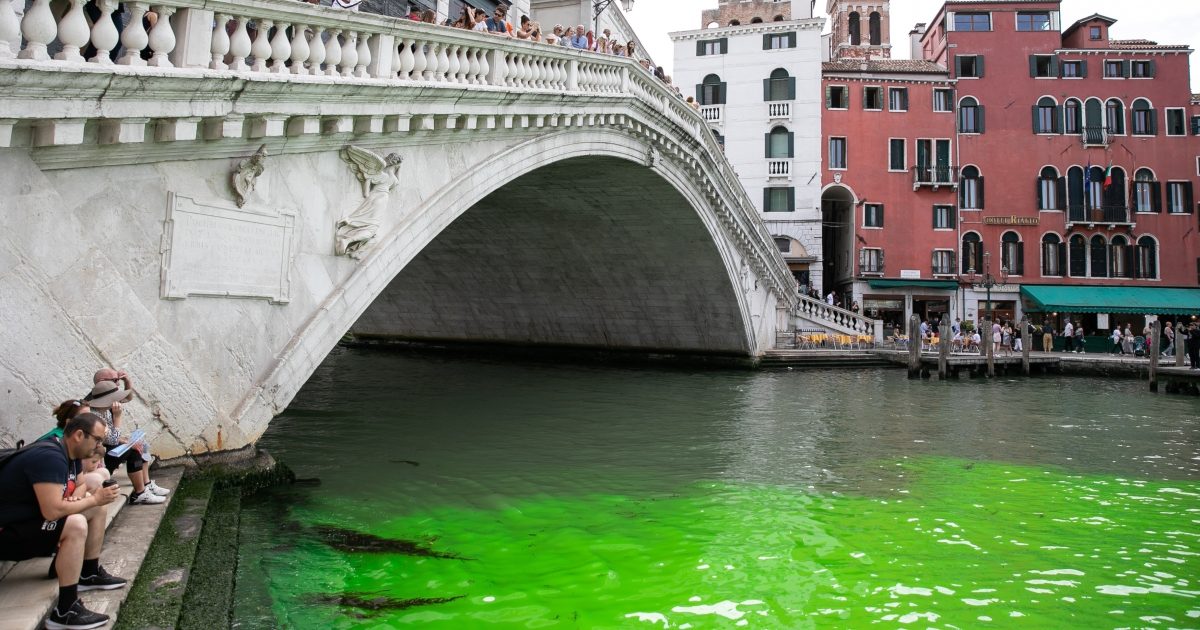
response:
[[[76,494],[80,460],[104,439],[104,421],[79,414],[62,428],[62,440],[43,440],[13,455],[0,469],[0,559],[24,560],[58,552],[59,600],[46,628],[88,629],[108,622],[79,600],[83,590],[121,588],[126,581],[100,565],[107,505],[118,486]]]

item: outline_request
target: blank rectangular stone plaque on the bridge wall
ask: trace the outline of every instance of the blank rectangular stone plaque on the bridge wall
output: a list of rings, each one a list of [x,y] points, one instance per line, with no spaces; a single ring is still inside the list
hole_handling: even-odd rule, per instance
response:
[[[294,212],[238,209],[169,193],[161,296],[266,298],[287,304],[294,233]]]

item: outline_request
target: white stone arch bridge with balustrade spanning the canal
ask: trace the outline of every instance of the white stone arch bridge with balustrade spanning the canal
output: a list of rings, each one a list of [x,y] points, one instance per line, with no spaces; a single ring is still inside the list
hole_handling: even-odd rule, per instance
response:
[[[170,457],[253,443],[347,331],[754,360],[787,325],[721,148],[632,60],[294,1],[90,6],[0,0],[4,444],[106,365]]]

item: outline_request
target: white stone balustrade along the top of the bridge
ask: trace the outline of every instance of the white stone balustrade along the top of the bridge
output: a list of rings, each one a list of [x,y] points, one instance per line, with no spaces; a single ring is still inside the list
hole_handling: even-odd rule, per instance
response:
[[[124,10],[118,13],[119,7]],[[155,18],[149,29],[148,12]],[[703,167],[714,185],[710,197],[722,198],[732,210],[725,217],[731,236],[752,251],[751,264],[772,283],[779,300],[796,304],[794,280],[701,114],[629,58],[294,0],[132,0],[121,5],[95,0],[94,6],[70,0],[58,18],[50,0],[32,0],[19,17],[12,0],[0,0],[0,68],[198,80],[478,86],[587,95],[593,101],[612,96],[613,104],[641,104],[677,127],[671,136],[686,139],[694,151],[690,166]],[[637,103],[628,103],[629,98]],[[330,91],[329,100],[336,106],[337,92]],[[10,125],[11,130],[13,119],[37,118],[37,113],[11,109],[0,107],[0,119],[10,119],[0,120],[0,127]],[[668,130],[642,131],[660,139]]]

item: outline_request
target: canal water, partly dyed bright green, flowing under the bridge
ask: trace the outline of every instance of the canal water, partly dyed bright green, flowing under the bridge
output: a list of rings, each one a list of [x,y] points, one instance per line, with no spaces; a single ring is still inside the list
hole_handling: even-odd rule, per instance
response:
[[[1200,628],[1200,406],[340,348],[262,445],[236,628]]]

